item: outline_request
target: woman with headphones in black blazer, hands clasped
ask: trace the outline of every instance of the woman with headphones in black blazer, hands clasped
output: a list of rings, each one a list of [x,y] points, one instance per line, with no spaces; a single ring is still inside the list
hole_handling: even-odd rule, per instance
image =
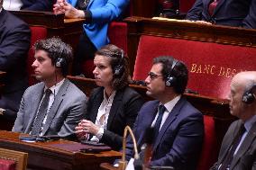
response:
[[[86,118],[79,122],[79,139],[122,148],[125,126],[133,127],[144,101],[129,85],[128,58],[123,49],[106,45],[96,51],[93,74],[96,85],[87,103]]]

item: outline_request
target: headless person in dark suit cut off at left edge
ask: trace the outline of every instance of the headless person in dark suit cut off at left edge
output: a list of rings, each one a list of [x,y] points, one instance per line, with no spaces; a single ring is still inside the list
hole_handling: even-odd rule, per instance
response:
[[[3,0],[0,0],[0,70],[6,72],[5,87],[1,89],[0,119],[14,121],[28,86],[25,69],[31,31],[28,24],[5,11],[2,5]]]

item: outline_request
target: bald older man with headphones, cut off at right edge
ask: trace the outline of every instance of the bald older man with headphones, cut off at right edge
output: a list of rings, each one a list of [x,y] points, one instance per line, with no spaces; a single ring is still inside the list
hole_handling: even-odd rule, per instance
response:
[[[241,72],[231,83],[230,112],[239,118],[227,130],[211,170],[256,169],[256,71]]]

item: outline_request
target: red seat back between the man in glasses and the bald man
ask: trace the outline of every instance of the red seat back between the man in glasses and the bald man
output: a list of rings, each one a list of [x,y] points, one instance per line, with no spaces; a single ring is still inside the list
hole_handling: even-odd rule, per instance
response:
[[[205,137],[201,157],[199,159],[197,170],[209,169],[217,159],[215,121],[211,116],[204,115]]]

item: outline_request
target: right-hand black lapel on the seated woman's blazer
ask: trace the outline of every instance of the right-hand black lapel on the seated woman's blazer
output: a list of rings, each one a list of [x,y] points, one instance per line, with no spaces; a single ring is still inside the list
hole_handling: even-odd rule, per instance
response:
[[[117,113],[119,107],[122,105],[122,99],[123,99],[123,92],[117,91],[114,100],[113,100],[113,105],[111,106],[108,119],[107,119],[107,124],[106,124],[106,130],[110,130],[110,125],[112,125],[112,121],[114,120],[115,114]]]

